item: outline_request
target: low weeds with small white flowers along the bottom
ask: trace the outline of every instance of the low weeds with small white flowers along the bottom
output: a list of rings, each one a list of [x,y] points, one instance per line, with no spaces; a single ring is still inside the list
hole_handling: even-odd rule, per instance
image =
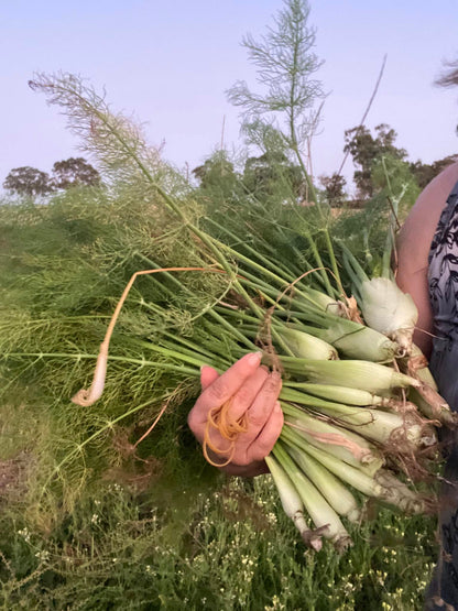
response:
[[[381,511],[353,536],[342,556],[304,550],[268,477],[214,492],[160,487],[148,501],[107,483],[46,536],[1,515],[0,600],[56,610],[422,609],[433,524]]]

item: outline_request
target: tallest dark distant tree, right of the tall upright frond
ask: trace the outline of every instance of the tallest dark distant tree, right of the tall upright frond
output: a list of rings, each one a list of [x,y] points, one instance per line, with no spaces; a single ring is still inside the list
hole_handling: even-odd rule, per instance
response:
[[[395,160],[405,160],[407,152],[394,145],[397,133],[386,123],[375,127],[377,137],[363,126],[352,128],[345,132],[345,153],[350,153],[357,170],[353,173],[353,181],[358,188],[361,199],[372,197],[374,184],[372,181],[372,170],[374,163],[380,161],[383,155],[389,155]]]

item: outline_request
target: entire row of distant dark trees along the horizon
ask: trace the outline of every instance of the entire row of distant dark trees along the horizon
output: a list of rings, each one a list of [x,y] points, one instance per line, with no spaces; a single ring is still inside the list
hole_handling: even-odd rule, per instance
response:
[[[355,166],[356,197],[349,201],[346,178],[337,172],[319,176],[321,197],[334,207],[346,203],[363,206],[377,194],[379,185],[374,170],[382,159],[411,174],[421,189],[447,165],[458,161],[458,155],[448,155],[430,164],[419,160],[411,162],[407,151],[396,145],[396,131],[386,123],[377,126],[374,133],[364,126],[346,130],[344,152],[351,156]],[[286,181],[299,201],[306,199],[307,185],[302,167],[279,146],[268,148],[259,156],[249,156],[241,173],[236,172],[229,156],[220,151],[195,167],[193,175],[203,189],[225,188],[225,184],[228,186],[237,178],[248,192],[258,195],[273,194],[275,182]],[[3,188],[11,195],[34,198],[59,189],[100,184],[101,176],[92,165],[83,157],[69,157],[55,162],[51,174],[31,166],[15,167],[6,177]]]

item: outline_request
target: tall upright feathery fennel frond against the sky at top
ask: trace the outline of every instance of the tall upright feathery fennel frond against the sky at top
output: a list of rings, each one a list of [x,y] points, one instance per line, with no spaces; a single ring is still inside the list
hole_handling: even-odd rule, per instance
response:
[[[313,78],[321,62],[313,52],[315,30],[307,25],[306,0],[285,0],[274,18],[275,28],[257,42],[248,34],[242,45],[264,89],[252,91],[238,81],[228,91],[229,100],[243,109],[242,129],[253,123],[272,126],[282,134],[307,181],[309,198],[316,200],[312,179],[303,161],[309,139],[316,130],[319,111],[314,110],[324,97],[321,83]]]

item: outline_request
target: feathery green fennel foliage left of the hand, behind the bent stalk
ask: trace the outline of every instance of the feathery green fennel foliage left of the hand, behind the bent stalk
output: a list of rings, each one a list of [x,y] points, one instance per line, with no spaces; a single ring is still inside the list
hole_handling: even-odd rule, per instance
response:
[[[179,404],[184,410],[185,399],[195,395],[198,368],[186,384],[173,372],[154,373],[142,362],[164,357],[145,356],[132,339],[151,341],[167,329],[186,332],[193,328],[192,317],[198,317],[226,285],[217,274],[183,274],[183,282],[140,277],[112,340],[111,353],[120,360],[109,367],[105,399],[96,411],[72,405],[70,396],[87,384],[130,276],[145,268],[208,265],[183,226],[160,209],[154,194],[132,184],[126,198],[124,188],[112,188],[110,195],[95,187],[75,188],[44,207],[0,209],[0,346],[6,358],[1,397],[7,413],[12,397],[26,402],[26,419],[40,423],[30,448],[34,454],[30,502],[39,502],[42,487],[58,476],[53,495],[42,503],[44,513],[56,511],[53,503],[70,509],[83,485],[90,488],[120,465],[129,443],[117,445],[116,439],[138,439],[157,414],[166,390],[171,394],[179,381],[179,392],[171,395],[171,417],[162,418],[159,427],[168,444],[176,436],[173,411]],[[195,214],[197,208],[192,212],[190,207],[188,214]],[[149,314],[152,305],[157,309]],[[144,374],[130,383],[139,369]],[[140,421],[133,417],[139,405],[143,406]],[[183,426],[186,417],[179,413]],[[12,413],[4,422],[14,417]],[[11,429],[21,440],[20,423],[11,422],[10,434]],[[31,440],[29,435],[24,439]],[[23,447],[29,449],[26,444]]]

